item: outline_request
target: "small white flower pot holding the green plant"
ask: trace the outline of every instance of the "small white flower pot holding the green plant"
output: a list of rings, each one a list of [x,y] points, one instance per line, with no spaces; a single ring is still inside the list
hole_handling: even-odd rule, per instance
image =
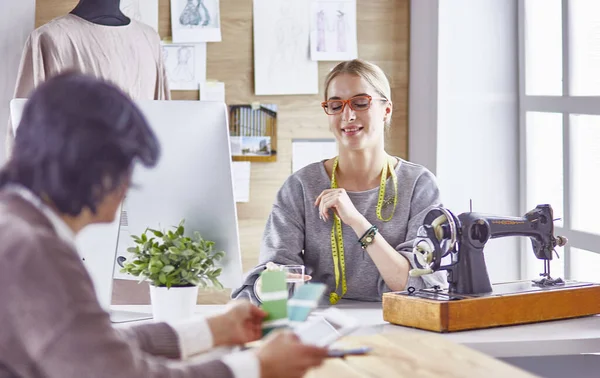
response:
[[[152,315],[157,322],[177,322],[193,316],[198,286],[171,287],[150,285]]]

